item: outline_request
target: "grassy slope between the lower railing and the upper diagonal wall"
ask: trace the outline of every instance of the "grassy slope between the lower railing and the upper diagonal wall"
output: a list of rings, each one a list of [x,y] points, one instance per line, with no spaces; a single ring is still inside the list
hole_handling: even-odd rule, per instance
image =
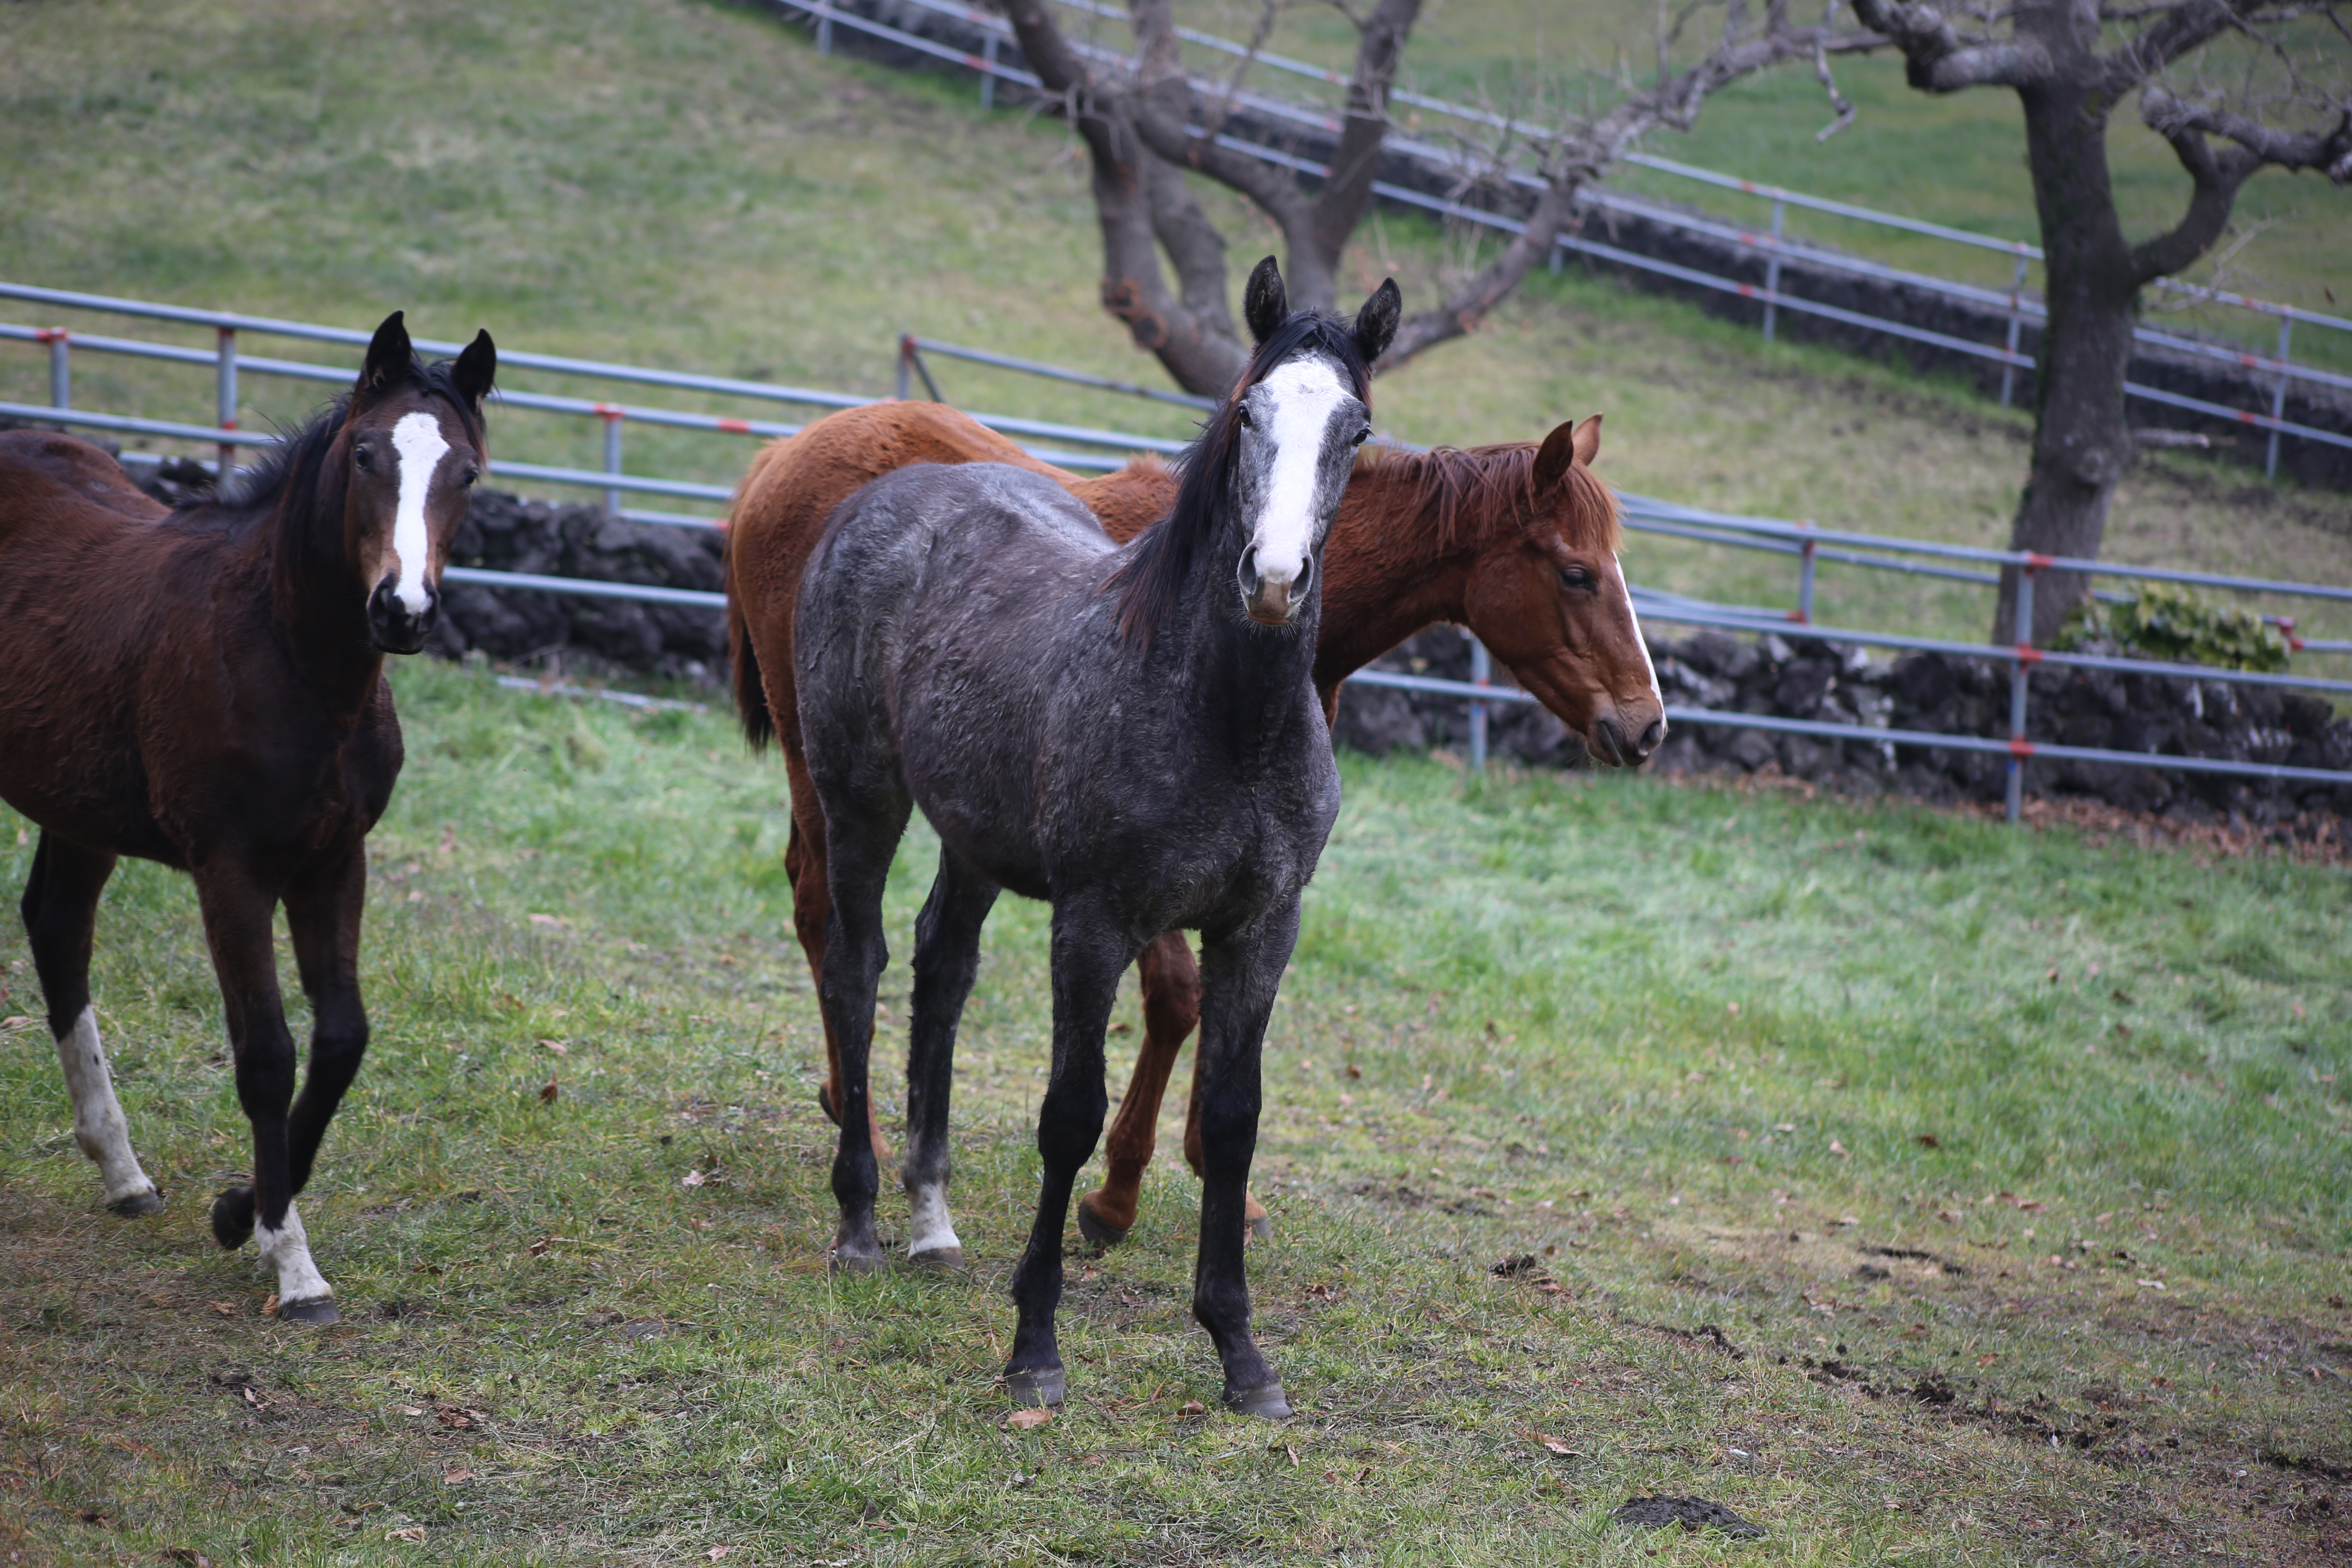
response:
[[[1150,369],[1096,306],[1091,209],[1058,132],[983,115],[960,85],[823,61],[788,28],[680,0],[412,0],[393,28],[348,0],[111,16],[0,12],[0,275],[343,324],[407,306],[433,336],[489,324],[513,348],[866,393],[889,390],[901,329]],[[1221,214],[1235,254],[1272,244]],[[1461,261],[1381,219],[1355,280],[1392,268],[1423,306]],[[85,407],[209,416],[205,371],[75,364]],[[1183,433],[1131,400],[941,376],[974,407]],[[313,395],[242,388],[247,423]],[[47,400],[40,350],[0,353],[0,395]],[[1381,421],[1416,440],[1534,437],[1590,409],[1609,411],[1604,470],[1628,489],[1823,524],[1999,543],[2025,465],[2018,414],[1573,277],[1534,280],[1479,339],[1381,383]],[[588,423],[506,411],[496,451],[597,465]],[[746,456],[739,437],[628,442],[637,473],[710,482]],[[2161,458],[2126,482],[2110,552],[2352,576],[2340,498]],[[1771,557],[1644,541],[1632,567],[1684,592],[1792,597]],[[1828,569],[1823,611],[1976,635],[1985,599]],[[2352,616],[2307,630],[2352,637]]]

